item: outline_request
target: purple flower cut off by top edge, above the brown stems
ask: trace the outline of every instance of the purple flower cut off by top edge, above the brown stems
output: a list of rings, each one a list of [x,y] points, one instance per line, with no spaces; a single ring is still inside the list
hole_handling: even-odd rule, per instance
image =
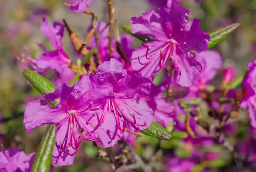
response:
[[[70,6],[70,10],[81,13],[87,10],[93,0],[67,0]]]

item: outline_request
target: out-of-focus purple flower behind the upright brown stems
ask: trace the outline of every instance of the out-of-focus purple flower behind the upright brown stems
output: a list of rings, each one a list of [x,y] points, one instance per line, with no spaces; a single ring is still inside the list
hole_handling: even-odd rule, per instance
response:
[[[97,26],[97,34],[100,35],[98,47],[99,47],[100,59],[102,62],[109,61],[109,47],[108,47],[109,26],[107,28],[105,28],[106,25],[107,25],[106,22],[100,21]],[[104,28],[105,28],[105,30],[103,31]],[[92,29],[92,26],[89,27],[88,32],[91,29]],[[120,34],[120,42],[121,42],[121,47],[122,47],[122,50],[124,51],[124,54],[127,56],[128,59],[130,59],[132,56],[132,51],[134,51],[134,49],[130,48],[131,45],[133,44],[132,36],[129,34]],[[112,46],[114,49],[114,51],[112,53],[112,57],[125,63],[125,61],[121,58],[121,56],[117,52],[115,39],[112,40]],[[96,47],[94,36],[89,41],[88,47],[89,48]]]

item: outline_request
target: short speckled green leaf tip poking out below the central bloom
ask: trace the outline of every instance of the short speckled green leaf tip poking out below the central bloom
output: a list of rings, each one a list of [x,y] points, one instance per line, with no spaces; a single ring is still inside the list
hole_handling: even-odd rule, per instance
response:
[[[154,121],[147,129],[142,130],[140,132],[145,135],[155,137],[157,139],[171,139],[171,133],[166,131],[164,127],[162,127]]]

